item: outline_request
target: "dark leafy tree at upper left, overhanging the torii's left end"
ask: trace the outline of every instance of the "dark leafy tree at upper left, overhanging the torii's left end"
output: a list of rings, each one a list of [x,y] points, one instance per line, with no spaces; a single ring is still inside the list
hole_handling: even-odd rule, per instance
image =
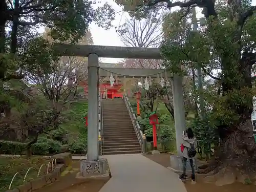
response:
[[[99,26],[109,28],[114,19],[113,9],[106,3],[103,7],[92,7],[92,1],[37,1],[8,0],[1,1],[0,13],[0,79],[23,78],[22,76],[8,76],[8,62],[13,62],[13,55],[22,56],[23,48],[35,37],[38,37],[37,28],[49,27],[53,39],[72,42],[78,41],[88,30],[89,24],[94,21]],[[67,9],[69,10],[67,12]],[[74,18],[76,22],[74,22]],[[10,35],[8,28],[11,28]],[[26,32],[26,33],[25,33]],[[9,40],[10,39],[10,40]],[[47,44],[47,41],[44,41]],[[18,47],[21,46],[21,47]],[[45,47],[47,45],[41,45]],[[20,52],[21,49],[22,51]],[[6,59],[10,57],[11,59]],[[19,58],[20,59],[20,58]],[[8,60],[8,61],[7,61]],[[14,65],[15,66],[15,65]],[[22,66],[19,66],[22,67]],[[17,66],[13,69],[17,71]],[[23,71],[23,70],[21,70]]]

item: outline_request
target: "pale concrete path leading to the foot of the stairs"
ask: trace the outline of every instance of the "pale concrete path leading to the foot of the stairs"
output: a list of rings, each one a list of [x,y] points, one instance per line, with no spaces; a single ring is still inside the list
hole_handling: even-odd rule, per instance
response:
[[[187,192],[179,176],[141,154],[107,155],[112,178],[99,192]]]

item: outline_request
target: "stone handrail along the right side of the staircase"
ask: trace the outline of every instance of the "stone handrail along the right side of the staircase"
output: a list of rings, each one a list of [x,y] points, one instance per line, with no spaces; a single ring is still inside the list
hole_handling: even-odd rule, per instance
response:
[[[139,123],[137,121],[137,117],[134,114],[132,105],[131,105],[131,103],[129,101],[129,98],[127,97],[127,94],[123,94],[123,99],[124,99],[126,108],[129,111],[129,115],[130,115],[130,118],[132,120],[133,127],[135,129],[136,135],[137,135],[137,137],[139,139],[139,143],[140,143],[140,146],[141,146],[142,151],[143,151],[143,149],[144,149],[144,147],[143,147],[143,133],[142,133],[142,131],[140,129],[140,125],[139,125]],[[143,152],[143,153],[145,153],[145,152]]]

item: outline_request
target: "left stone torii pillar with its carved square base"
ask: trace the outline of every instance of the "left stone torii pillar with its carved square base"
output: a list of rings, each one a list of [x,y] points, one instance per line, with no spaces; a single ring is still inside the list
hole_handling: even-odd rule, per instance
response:
[[[106,159],[99,158],[99,57],[96,53],[88,55],[88,135],[87,159],[81,161],[78,178],[109,176]]]

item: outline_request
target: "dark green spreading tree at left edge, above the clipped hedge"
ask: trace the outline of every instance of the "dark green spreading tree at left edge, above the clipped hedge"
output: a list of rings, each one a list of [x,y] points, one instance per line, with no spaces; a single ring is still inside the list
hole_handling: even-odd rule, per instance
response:
[[[26,94],[15,86],[5,89],[0,98],[8,97],[11,114],[0,118],[0,132],[7,137],[14,133],[15,136],[12,134],[9,139],[25,143],[27,157],[30,157],[31,146],[36,143],[39,134],[54,130],[53,120],[59,114],[54,113],[40,96]]]

